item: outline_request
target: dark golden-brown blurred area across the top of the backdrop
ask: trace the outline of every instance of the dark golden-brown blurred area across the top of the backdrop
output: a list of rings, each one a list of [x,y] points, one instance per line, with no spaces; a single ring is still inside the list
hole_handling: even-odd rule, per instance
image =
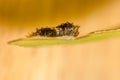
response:
[[[0,20],[13,25],[56,24],[80,19],[107,0],[0,0]]]

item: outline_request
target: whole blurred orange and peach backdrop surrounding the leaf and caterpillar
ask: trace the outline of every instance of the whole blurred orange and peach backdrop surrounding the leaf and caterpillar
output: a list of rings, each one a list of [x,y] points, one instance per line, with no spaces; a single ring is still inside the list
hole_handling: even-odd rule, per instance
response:
[[[80,25],[80,35],[120,25],[119,0],[0,0],[0,80],[120,80],[120,38],[77,45],[7,42],[36,27]]]

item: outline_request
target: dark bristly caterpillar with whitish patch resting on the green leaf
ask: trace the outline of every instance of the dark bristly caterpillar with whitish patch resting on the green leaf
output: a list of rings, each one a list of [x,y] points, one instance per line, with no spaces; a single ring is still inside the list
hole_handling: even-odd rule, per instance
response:
[[[62,37],[62,36],[72,36],[77,37],[79,34],[80,26],[73,25],[73,23],[66,22],[56,27],[43,27],[43,28],[36,28],[35,32],[32,32],[27,37]]]

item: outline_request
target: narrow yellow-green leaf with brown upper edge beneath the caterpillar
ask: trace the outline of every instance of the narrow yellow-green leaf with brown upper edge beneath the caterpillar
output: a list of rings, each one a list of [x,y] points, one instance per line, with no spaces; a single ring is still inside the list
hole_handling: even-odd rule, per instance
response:
[[[38,46],[40,47],[40,46],[48,46],[48,45],[80,44],[80,43],[109,39],[113,37],[120,37],[120,28],[91,32],[85,36],[78,37],[75,40],[63,40],[63,39],[55,39],[55,38],[52,39],[23,38],[23,39],[10,41],[8,42],[8,44],[24,46],[24,47],[38,47]]]

